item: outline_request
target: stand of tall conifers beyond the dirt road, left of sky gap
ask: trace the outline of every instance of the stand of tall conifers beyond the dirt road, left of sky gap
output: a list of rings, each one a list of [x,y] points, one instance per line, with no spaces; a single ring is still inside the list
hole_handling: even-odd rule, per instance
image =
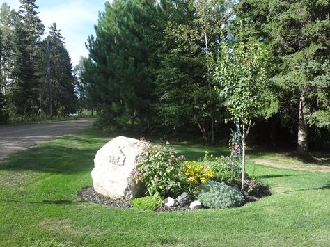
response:
[[[47,88],[49,42],[51,95]],[[64,38],[56,23],[45,26],[35,0],[20,0],[19,10],[7,3],[0,8],[0,122],[77,110],[76,81]]]

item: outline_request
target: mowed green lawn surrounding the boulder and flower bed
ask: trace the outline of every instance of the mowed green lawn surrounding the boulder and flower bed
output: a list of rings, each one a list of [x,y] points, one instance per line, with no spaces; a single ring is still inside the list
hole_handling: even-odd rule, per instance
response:
[[[0,246],[329,246],[330,174],[248,162],[272,196],[235,209],[145,212],[80,202],[96,151],[89,130],[0,161]],[[226,148],[175,145],[188,159]]]

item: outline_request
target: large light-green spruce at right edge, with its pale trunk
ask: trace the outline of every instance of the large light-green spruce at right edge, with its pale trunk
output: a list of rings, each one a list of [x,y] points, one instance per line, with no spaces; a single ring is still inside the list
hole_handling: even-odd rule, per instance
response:
[[[272,46],[278,112],[288,128],[297,126],[297,151],[304,155],[308,125],[330,127],[329,8],[329,1],[242,0],[235,9],[246,38]]]

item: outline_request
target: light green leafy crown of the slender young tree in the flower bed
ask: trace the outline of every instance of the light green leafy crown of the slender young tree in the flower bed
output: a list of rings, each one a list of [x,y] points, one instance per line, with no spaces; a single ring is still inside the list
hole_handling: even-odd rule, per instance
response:
[[[217,92],[233,116],[243,122],[264,114],[270,105],[269,51],[260,42],[221,45],[214,71]]]

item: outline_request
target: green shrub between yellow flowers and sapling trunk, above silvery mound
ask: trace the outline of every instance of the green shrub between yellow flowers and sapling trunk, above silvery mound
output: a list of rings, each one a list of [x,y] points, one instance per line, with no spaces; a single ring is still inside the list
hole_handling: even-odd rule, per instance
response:
[[[226,156],[217,158],[216,161],[210,163],[214,177],[212,180],[224,182],[228,185],[239,185],[242,166],[238,157]]]

